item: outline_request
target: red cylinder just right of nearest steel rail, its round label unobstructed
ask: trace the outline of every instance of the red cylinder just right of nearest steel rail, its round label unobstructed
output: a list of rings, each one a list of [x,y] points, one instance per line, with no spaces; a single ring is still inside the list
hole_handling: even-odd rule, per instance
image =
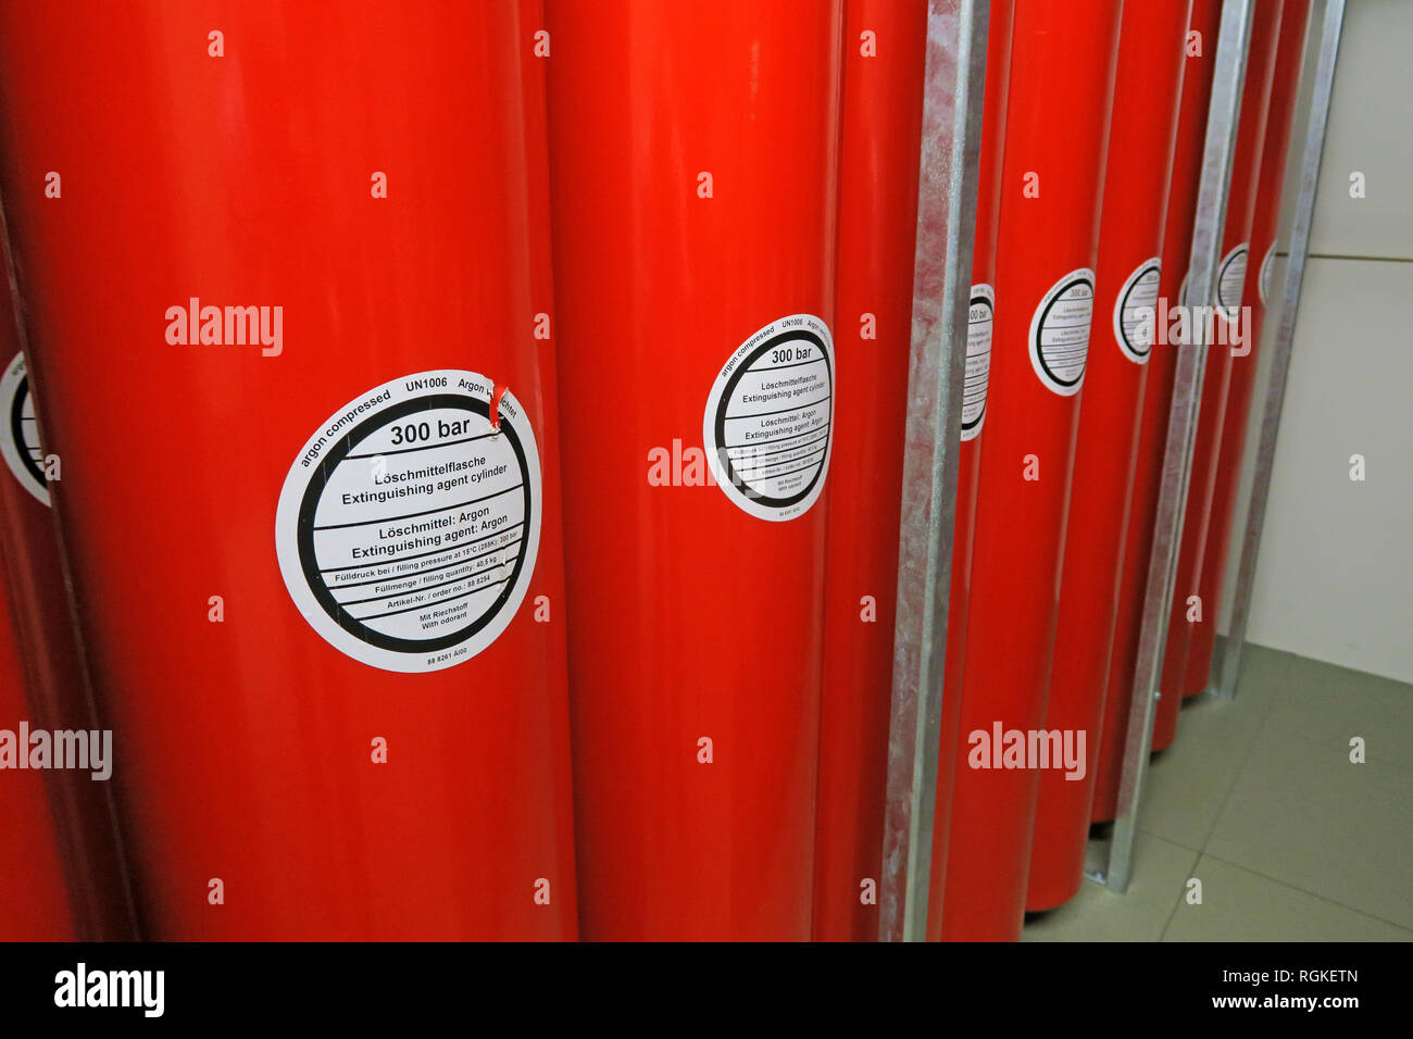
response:
[[[995,348],[942,937],[1020,934],[1078,393],[1084,382],[1116,0],[1017,0],[996,240]]]

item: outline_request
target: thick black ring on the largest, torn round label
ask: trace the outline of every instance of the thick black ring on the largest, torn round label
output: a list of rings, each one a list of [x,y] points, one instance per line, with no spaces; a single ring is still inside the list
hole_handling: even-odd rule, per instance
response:
[[[345,455],[350,454],[357,444],[367,440],[384,425],[418,411],[432,411],[442,407],[471,411],[473,414],[479,414],[487,421],[490,420],[490,407],[486,401],[479,397],[458,393],[438,393],[427,397],[413,397],[411,400],[394,404],[386,411],[382,411],[370,418],[365,418],[329,448],[328,455],[321,459],[319,465],[314,471],[314,475],[309,478],[309,485],[304,489],[304,498],[300,502],[300,520],[295,536],[300,550],[300,568],[304,571],[304,580],[309,585],[309,591],[314,592],[314,598],[318,599],[321,606],[324,606],[324,612],[333,618],[333,622],[355,639],[366,642],[370,646],[377,646],[379,649],[387,649],[397,653],[425,653],[449,649],[451,646],[459,646],[462,642],[476,635],[476,632],[490,623],[496,615],[500,614],[506,602],[510,599],[512,592],[520,582],[520,571],[524,568],[526,553],[530,550],[530,517],[533,505],[530,496],[530,464],[526,461],[526,452],[520,445],[520,437],[516,435],[514,427],[502,418],[500,434],[507,438],[510,448],[516,454],[516,461],[520,464],[520,486],[524,493],[526,530],[520,537],[520,548],[516,553],[516,565],[510,573],[510,580],[506,581],[500,589],[500,595],[496,597],[496,599],[485,612],[482,612],[480,616],[448,635],[438,635],[432,639],[398,639],[393,635],[384,635],[383,632],[369,628],[362,621],[350,615],[342,605],[339,605],[338,599],[333,598],[333,592],[329,591],[329,587],[324,584],[324,578],[319,575],[318,560],[314,554],[314,517],[319,510],[319,499],[322,498],[324,488],[329,482],[329,475],[338,469]],[[373,520],[373,523],[376,522],[377,520]],[[369,565],[373,567],[377,565],[377,563],[370,563]]]

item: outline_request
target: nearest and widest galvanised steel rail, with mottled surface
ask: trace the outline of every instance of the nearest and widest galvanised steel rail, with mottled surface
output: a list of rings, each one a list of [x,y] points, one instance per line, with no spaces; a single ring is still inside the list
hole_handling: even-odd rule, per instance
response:
[[[930,0],[879,939],[921,941],[933,865],[947,599],[991,0]]]

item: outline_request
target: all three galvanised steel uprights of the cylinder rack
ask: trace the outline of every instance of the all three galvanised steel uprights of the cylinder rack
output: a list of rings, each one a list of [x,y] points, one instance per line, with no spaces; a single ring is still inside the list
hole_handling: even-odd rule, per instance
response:
[[[1193,229],[1190,297],[1186,301],[1190,305],[1211,307],[1217,298],[1253,6],[1255,0],[1226,0],[1222,8]],[[928,1],[887,803],[879,884],[879,939],[885,941],[917,941],[927,933],[989,8],[989,0]],[[1280,319],[1236,571],[1236,601],[1231,635],[1222,642],[1214,664],[1214,686],[1228,698],[1235,695],[1245,646],[1344,10],[1345,0],[1325,0],[1316,45],[1310,117],[1299,155],[1290,260],[1277,304]],[[1307,54],[1307,68],[1308,64]],[[1099,861],[1087,869],[1091,879],[1116,893],[1128,891],[1137,807],[1147,776],[1207,349],[1208,344],[1197,342],[1177,355],[1118,813]]]

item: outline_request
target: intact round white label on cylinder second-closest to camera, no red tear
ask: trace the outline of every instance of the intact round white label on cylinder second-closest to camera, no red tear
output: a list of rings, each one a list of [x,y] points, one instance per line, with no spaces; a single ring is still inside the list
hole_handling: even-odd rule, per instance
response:
[[[712,383],[702,444],[716,485],[766,520],[808,512],[834,442],[834,339],[812,314],[771,321]]]

